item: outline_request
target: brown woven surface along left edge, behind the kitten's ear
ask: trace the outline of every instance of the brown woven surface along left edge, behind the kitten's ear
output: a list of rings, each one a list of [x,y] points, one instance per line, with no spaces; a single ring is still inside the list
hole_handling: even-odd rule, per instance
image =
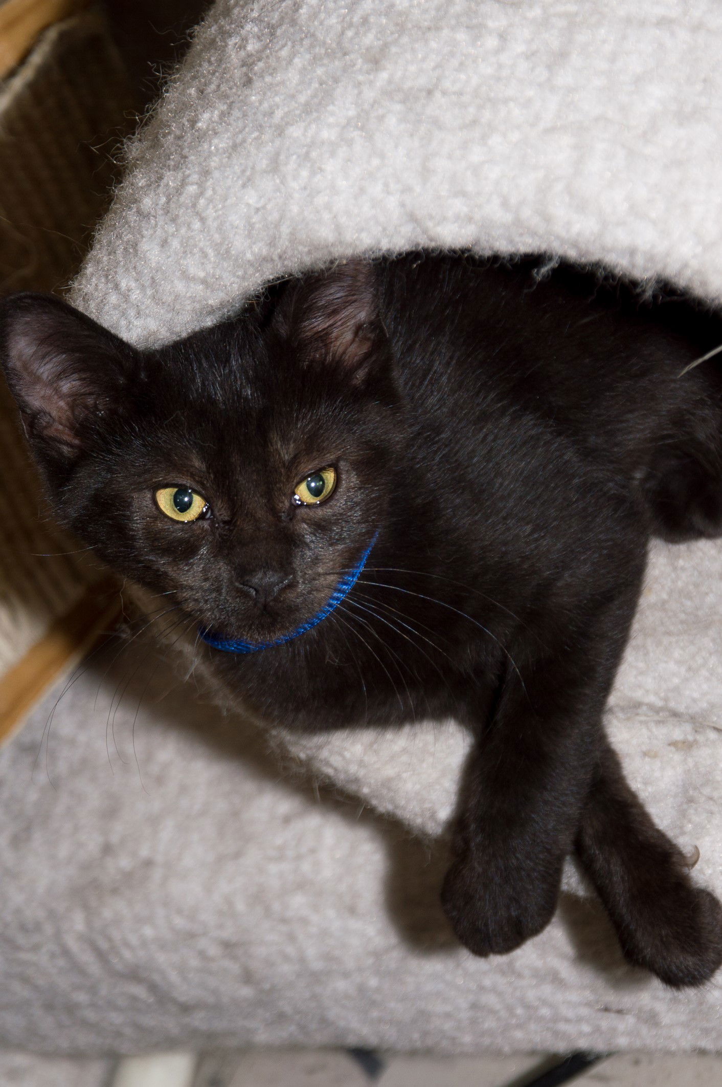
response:
[[[62,292],[109,203],[112,152],[134,123],[128,78],[93,9],[42,32],[0,84],[0,293]],[[48,661],[67,661],[87,644],[110,590],[92,553],[49,517],[4,384],[0,465],[1,738],[18,705],[56,674]],[[42,674],[28,672],[28,652],[30,664],[45,662]],[[29,683],[20,701],[18,674]]]

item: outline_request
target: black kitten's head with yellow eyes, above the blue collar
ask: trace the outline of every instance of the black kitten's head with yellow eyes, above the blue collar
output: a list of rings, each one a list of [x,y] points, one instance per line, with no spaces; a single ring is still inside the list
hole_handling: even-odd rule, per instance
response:
[[[58,299],[0,308],[0,358],[58,516],[202,625],[314,615],[388,516],[402,420],[375,266],[140,351]]]

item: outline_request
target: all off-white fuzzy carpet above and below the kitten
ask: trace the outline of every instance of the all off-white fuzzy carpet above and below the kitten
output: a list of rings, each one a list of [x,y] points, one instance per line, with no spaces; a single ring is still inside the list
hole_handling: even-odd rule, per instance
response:
[[[75,301],[160,342],[269,278],[415,246],[544,250],[719,299],[721,47],[717,0],[220,0]],[[655,549],[609,711],[630,776],[718,891],[721,575],[718,545]],[[400,824],[445,826],[453,723],[287,738],[396,822],[356,821],[215,740],[185,696],[141,708],[148,794],[132,765],[111,776],[86,683],[51,733],[58,792],[30,782],[42,713],[2,752],[9,1044],[722,1046],[719,980],[675,995],[628,970],[588,897],[508,958],[444,942],[418,883],[438,884],[443,849],[423,869]]]

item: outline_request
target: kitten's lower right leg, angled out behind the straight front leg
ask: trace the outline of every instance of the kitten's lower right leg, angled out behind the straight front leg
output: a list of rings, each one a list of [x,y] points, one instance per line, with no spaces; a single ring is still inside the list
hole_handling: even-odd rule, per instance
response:
[[[672,986],[699,985],[722,963],[722,907],[655,826],[606,737],[575,848],[625,958]]]

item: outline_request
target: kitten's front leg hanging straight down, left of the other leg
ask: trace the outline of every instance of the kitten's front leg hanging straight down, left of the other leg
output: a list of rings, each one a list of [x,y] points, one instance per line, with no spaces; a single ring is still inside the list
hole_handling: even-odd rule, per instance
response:
[[[641,576],[642,562],[606,599],[550,615],[545,650],[507,667],[480,728],[442,888],[456,935],[476,954],[512,951],[552,920]]]

